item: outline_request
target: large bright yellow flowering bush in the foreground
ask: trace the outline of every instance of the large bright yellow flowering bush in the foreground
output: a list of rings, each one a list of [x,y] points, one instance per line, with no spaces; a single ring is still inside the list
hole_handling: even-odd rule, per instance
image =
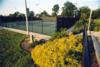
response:
[[[82,58],[82,38],[74,35],[56,38],[37,45],[31,52],[40,67],[80,67]]]

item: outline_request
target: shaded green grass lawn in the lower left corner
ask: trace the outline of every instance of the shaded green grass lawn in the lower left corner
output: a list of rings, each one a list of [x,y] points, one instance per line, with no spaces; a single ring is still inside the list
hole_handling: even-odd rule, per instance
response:
[[[0,67],[34,67],[31,56],[20,48],[25,35],[0,30]]]

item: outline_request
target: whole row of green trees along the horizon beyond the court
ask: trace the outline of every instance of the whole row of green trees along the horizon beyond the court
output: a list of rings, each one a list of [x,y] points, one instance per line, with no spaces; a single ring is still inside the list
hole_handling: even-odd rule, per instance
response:
[[[52,7],[52,14],[51,15],[46,10],[44,10],[43,12],[36,14],[36,15],[35,15],[34,11],[28,11],[28,17],[30,17],[30,18],[33,18],[33,17],[36,18],[36,17],[42,17],[42,16],[46,16],[46,17],[56,17],[56,16],[73,17],[73,16],[80,15],[80,17],[89,18],[89,14],[90,14],[89,7],[83,6],[83,7],[77,8],[73,3],[69,2],[69,1],[64,3],[64,5],[62,7],[61,14],[59,14],[59,11],[60,11],[59,4],[55,4]],[[9,14],[8,17],[25,17],[25,14],[17,11],[13,14]],[[93,10],[92,18],[93,19],[100,18],[100,7],[96,10]]]

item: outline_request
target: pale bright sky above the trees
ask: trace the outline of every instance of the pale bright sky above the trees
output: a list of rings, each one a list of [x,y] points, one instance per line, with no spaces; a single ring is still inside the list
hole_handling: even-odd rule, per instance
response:
[[[27,0],[27,6],[35,14],[44,10],[51,14],[52,7],[55,4],[59,4],[59,13],[61,13],[61,8],[66,1],[72,2],[78,8],[88,6],[90,9],[97,9],[100,7],[100,0]],[[15,11],[25,13],[25,0],[0,0],[0,15],[9,15]]]

